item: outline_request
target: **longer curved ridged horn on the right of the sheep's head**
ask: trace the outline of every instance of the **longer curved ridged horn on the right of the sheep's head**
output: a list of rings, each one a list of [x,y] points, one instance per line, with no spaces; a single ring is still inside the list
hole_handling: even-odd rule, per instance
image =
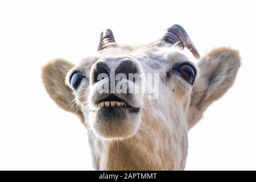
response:
[[[171,44],[177,44],[182,48],[187,47],[196,59],[200,58],[199,52],[189,39],[187,32],[185,32],[185,30],[178,24],[167,29],[166,34],[163,36],[163,40]]]

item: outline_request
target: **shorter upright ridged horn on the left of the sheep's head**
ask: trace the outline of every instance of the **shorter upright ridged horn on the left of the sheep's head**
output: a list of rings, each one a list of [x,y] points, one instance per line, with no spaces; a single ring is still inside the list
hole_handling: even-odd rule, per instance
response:
[[[109,29],[102,31],[100,44],[98,45],[98,51],[105,49],[109,46],[115,46],[115,38],[113,32]]]

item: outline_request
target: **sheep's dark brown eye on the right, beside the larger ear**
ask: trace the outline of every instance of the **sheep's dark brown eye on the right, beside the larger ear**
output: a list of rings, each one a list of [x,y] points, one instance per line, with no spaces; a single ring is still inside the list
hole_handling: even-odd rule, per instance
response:
[[[189,84],[193,85],[196,78],[196,71],[191,65],[183,64],[179,67],[180,75],[187,81]]]

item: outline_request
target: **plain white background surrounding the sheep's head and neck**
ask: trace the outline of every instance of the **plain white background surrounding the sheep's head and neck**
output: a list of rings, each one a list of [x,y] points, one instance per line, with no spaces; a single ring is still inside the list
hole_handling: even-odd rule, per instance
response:
[[[96,53],[111,28],[142,44],[181,24],[204,55],[230,46],[242,57],[234,86],[189,132],[187,170],[256,169],[254,1],[1,1],[0,169],[92,169],[86,129],[49,98],[41,68]]]

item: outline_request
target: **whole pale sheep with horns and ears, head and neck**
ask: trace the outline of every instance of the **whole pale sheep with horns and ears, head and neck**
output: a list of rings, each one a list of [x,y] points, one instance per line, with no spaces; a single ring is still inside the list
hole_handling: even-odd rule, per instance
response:
[[[189,129],[240,67],[231,48],[199,58],[179,25],[139,47],[119,46],[106,30],[95,56],[78,65],[53,60],[43,82],[56,104],[88,128],[96,169],[184,169]]]

